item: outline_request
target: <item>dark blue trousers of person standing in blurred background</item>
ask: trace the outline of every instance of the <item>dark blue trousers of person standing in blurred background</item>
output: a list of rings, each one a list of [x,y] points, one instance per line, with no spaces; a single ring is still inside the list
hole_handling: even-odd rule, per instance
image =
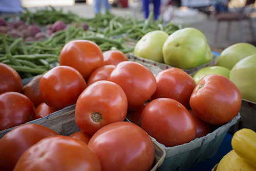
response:
[[[148,17],[149,6],[150,6],[151,2],[154,4],[155,19],[158,19],[158,16],[159,16],[159,13],[160,13],[160,5],[161,5],[160,0],[142,0],[143,11],[144,11],[144,14],[145,14],[145,18]]]

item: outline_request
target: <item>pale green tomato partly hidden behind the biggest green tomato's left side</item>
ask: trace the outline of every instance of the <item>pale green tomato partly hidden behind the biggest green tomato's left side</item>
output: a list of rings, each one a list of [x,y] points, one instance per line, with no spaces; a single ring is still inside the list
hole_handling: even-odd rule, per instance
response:
[[[163,63],[162,47],[168,36],[168,33],[161,30],[148,32],[135,45],[134,54]]]

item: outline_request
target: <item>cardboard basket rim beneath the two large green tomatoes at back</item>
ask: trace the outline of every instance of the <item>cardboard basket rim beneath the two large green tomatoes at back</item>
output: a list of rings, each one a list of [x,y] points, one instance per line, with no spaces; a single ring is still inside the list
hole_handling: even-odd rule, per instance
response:
[[[190,74],[190,73],[194,73],[194,72],[196,72],[196,71],[198,71],[198,70],[200,70],[201,68],[204,68],[204,67],[215,66],[217,64],[217,61],[218,61],[219,53],[216,53],[216,52],[213,52],[213,51],[211,53],[212,53],[213,59],[211,61],[209,61],[208,63],[205,63],[204,65],[201,65],[197,68],[193,68],[193,69],[189,69],[189,70],[182,69],[182,70],[185,71],[186,73]],[[165,70],[165,69],[168,69],[168,68],[173,68],[172,66],[169,66],[165,63],[156,62],[156,61],[151,60],[151,59],[145,59],[145,58],[136,56],[133,53],[129,53],[127,55],[127,57],[129,58],[129,60],[132,59],[134,61],[142,63],[142,65],[145,65],[147,63],[147,64],[150,64],[150,65],[159,67],[161,70]]]

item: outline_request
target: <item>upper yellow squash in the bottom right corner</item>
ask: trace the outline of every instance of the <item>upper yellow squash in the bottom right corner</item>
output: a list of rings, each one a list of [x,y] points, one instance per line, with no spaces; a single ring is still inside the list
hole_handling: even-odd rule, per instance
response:
[[[250,129],[241,129],[234,133],[231,145],[238,156],[256,167],[256,133]]]

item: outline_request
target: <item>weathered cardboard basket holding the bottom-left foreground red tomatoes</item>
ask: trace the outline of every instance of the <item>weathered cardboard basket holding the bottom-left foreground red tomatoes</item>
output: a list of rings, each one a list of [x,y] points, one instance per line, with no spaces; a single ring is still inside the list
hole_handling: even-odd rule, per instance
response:
[[[54,112],[44,118],[39,118],[27,123],[43,125],[56,131],[60,135],[66,136],[70,136],[71,134],[80,131],[75,122],[75,104]],[[14,129],[14,127],[1,131],[0,139],[12,129]],[[153,140],[153,143],[155,147],[155,161],[151,171],[157,170],[157,168],[163,163],[166,155],[164,149],[156,141]]]

